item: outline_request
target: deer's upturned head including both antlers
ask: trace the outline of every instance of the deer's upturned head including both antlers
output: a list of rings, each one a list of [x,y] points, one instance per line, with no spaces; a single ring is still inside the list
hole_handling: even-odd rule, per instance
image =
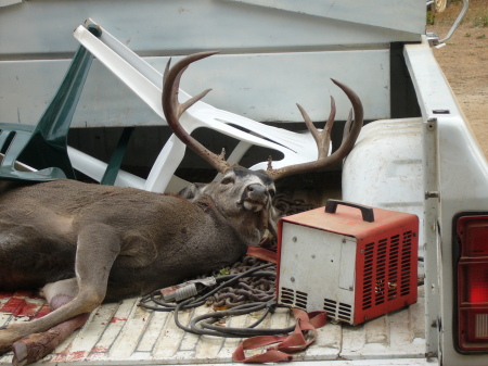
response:
[[[264,220],[268,220],[268,228],[271,232],[274,232],[275,219],[278,216],[271,205],[272,197],[275,193],[273,180],[290,175],[319,171],[342,161],[354,148],[356,139],[358,138],[361,130],[363,124],[362,103],[359,97],[351,89],[349,89],[344,84],[332,79],[332,81],[341,89],[343,89],[343,91],[349,98],[352,104],[354,119],[351,111],[344,127],[343,141],[341,143],[341,147],[331,155],[329,155],[329,147],[335,117],[335,101],[332,97],[331,112],[323,130],[318,130],[308,116],[307,112],[299,104],[297,104],[305,119],[307,128],[310,130],[313,139],[316,140],[318,147],[317,161],[273,169],[272,162],[270,160],[268,168],[266,171],[257,172],[252,172],[235,164],[229,164],[224,160],[223,149],[219,155],[209,151],[202,143],[195,140],[191,135],[189,135],[179,123],[179,118],[184,113],[184,111],[187,111],[210,91],[210,89],[204,90],[183,104],[179,103],[178,90],[182,74],[191,63],[208,58],[216,53],[218,52],[209,51],[191,54],[176,63],[172,67],[170,67],[169,61],[165,70],[162,102],[168,125],[183,143],[185,143],[195,153],[203,157],[217,172],[222,174],[222,178],[219,181],[215,181],[208,185],[195,184],[182,190],[180,194],[193,200],[204,192],[210,193],[214,199],[219,200],[219,203],[222,207],[226,207],[226,212],[230,214],[230,217],[236,217],[240,220],[242,220],[243,212],[247,212],[247,216],[253,216],[256,213],[262,212],[265,210],[265,212],[267,212],[268,214],[260,215],[261,223],[255,223],[255,225],[264,228],[266,227]],[[229,200],[229,197],[232,197],[232,200]],[[221,200],[221,198],[224,199]]]

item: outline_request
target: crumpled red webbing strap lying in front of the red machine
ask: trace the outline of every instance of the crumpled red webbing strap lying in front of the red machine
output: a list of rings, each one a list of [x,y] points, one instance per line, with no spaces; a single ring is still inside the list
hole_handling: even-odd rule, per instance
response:
[[[293,308],[293,315],[296,319],[296,327],[292,335],[278,336],[258,336],[244,340],[232,354],[232,361],[240,363],[271,363],[280,361],[292,361],[293,356],[287,352],[298,352],[305,350],[313,343],[317,338],[317,329],[323,327],[326,323],[325,312],[306,313],[298,308]],[[311,331],[312,337],[305,338],[306,333]],[[265,353],[251,357],[245,356],[244,351],[257,349],[268,344],[274,344],[266,350]]]

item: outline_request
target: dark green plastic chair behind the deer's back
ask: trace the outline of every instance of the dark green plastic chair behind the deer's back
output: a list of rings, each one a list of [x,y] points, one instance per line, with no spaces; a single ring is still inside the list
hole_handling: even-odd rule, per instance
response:
[[[97,37],[101,29],[89,26]],[[93,55],[79,46],[51,103],[36,126],[0,123],[0,179],[49,181],[76,179],[67,154],[67,132],[78,104]],[[111,157],[102,184],[113,185],[125,155],[132,128],[124,130]],[[25,171],[18,162],[37,171]]]

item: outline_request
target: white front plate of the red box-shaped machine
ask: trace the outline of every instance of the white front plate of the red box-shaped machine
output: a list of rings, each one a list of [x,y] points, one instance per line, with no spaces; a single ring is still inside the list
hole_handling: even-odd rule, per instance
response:
[[[307,312],[324,310],[324,299],[347,304],[352,323],[356,249],[355,238],[283,223],[278,298],[283,288],[299,291],[307,296]]]

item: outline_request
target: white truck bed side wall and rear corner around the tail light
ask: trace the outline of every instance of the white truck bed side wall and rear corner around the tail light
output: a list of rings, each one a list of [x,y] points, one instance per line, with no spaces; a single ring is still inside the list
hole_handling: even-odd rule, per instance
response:
[[[426,156],[435,159],[435,172],[437,175],[427,178],[428,189],[435,189],[438,198],[427,199],[427,212],[437,213],[429,216],[432,230],[425,231],[425,242],[428,247],[439,244],[439,266],[432,265],[435,262],[436,252],[433,250],[434,258],[429,260],[426,283],[435,286],[436,277],[440,278],[439,292],[426,292],[426,298],[439,294],[440,299],[431,299],[427,314],[432,317],[435,313],[434,305],[440,303],[439,317],[440,327],[440,352],[442,365],[487,365],[488,355],[461,355],[453,348],[453,283],[455,269],[452,265],[452,219],[460,212],[487,211],[488,209],[488,165],[484,154],[473,137],[465,117],[460,110],[448,81],[442,75],[432,50],[424,39],[421,45],[407,45],[404,58],[422,110],[422,117],[426,123],[429,138],[433,135],[436,143],[435,152]],[[437,113],[436,113],[437,111]],[[439,113],[445,111],[445,113]],[[432,127],[431,127],[432,125]],[[433,184],[437,182],[437,187]],[[434,192],[434,191],[432,191]],[[429,203],[438,201],[437,204]],[[439,274],[436,274],[439,269]],[[436,319],[437,320],[437,319]],[[436,321],[437,324],[437,321]],[[434,328],[435,329],[435,328]],[[427,335],[427,337],[431,337]]]

